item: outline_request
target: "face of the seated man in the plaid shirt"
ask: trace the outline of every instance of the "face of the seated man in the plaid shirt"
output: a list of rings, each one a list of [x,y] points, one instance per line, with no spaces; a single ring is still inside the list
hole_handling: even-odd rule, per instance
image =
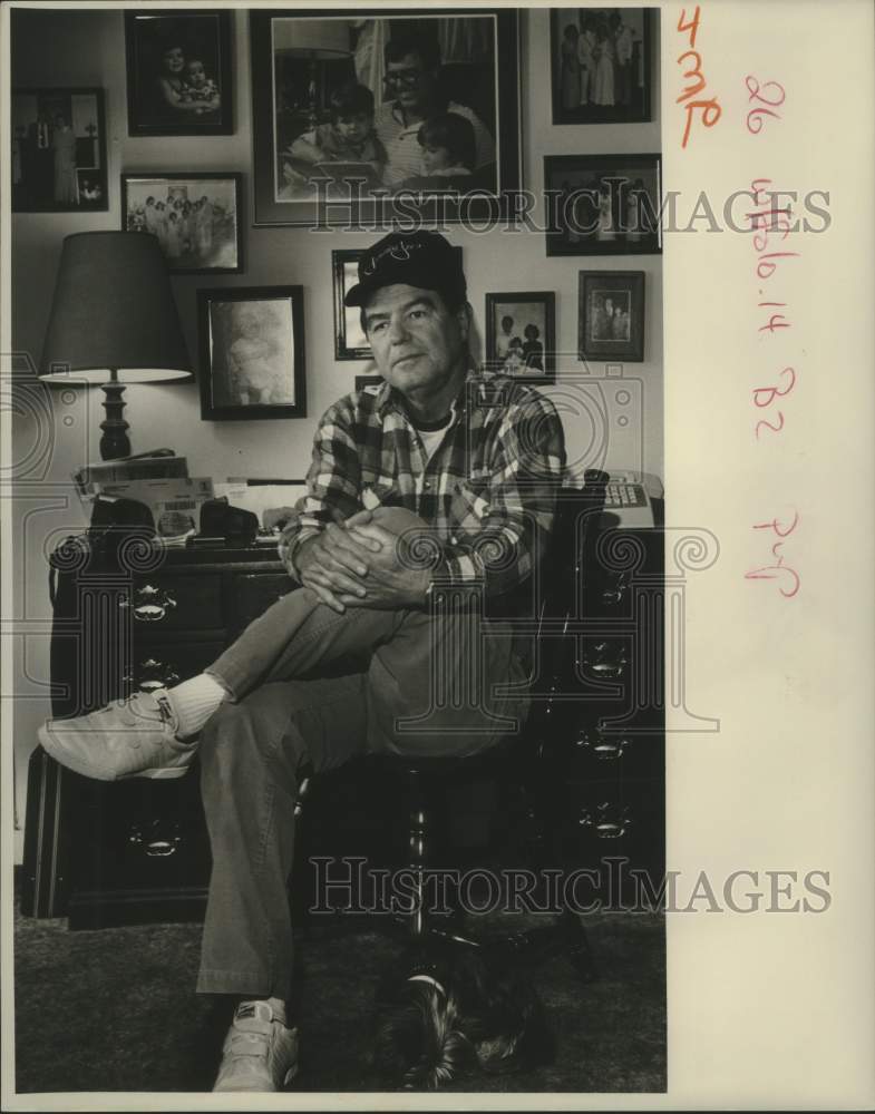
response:
[[[383,286],[366,306],[364,329],[380,374],[402,394],[439,390],[464,362],[467,313],[450,313],[434,290]]]

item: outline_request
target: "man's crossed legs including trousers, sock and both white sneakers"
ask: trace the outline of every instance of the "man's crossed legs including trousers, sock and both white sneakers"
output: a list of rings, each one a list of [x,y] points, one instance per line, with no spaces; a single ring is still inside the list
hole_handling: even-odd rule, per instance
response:
[[[400,532],[415,516],[393,509],[382,520]],[[318,676],[351,656],[361,672]],[[296,1034],[285,1024],[286,885],[301,766],[320,772],[367,751],[490,745],[524,711],[493,690],[518,678],[509,636],[476,607],[339,610],[304,587],[255,619],[206,674],[41,730],[50,754],[105,780],[179,775],[200,745],[213,871],[198,990],[242,999],[216,1089],[276,1089],[296,1068]]]

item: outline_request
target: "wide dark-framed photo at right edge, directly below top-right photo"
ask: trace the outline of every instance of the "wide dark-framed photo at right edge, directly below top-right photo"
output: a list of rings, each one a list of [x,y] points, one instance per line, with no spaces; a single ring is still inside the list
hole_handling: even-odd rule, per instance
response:
[[[658,154],[547,156],[547,255],[659,254],[661,166]]]

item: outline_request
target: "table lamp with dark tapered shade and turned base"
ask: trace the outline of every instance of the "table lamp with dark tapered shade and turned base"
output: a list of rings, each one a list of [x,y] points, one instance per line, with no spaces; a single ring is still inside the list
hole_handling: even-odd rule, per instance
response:
[[[100,458],[130,455],[126,383],[191,381],[191,361],[158,237],[143,232],[66,236],[39,378],[106,393]]]

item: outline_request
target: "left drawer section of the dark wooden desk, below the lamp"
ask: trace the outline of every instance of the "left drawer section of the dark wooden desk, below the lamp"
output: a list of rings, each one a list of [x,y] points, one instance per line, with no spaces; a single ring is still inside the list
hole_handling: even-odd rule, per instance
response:
[[[274,547],[89,549],[51,557],[52,714],[82,714],[213,662],[295,587]],[[210,846],[198,775],[98,782],[30,759],[22,912],[71,928],[202,916]]]

